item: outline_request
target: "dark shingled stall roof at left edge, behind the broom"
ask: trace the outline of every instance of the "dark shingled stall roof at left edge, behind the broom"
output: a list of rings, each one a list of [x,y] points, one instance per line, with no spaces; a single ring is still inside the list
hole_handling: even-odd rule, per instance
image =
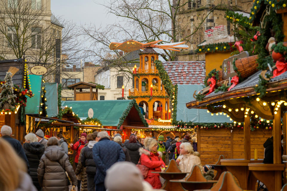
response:
[[[23,59],[13,59],[13,60],[0,60],[0,79],[4,80],[6,72],[9,70],[10,66],[18,68],[19,71],[12,77],[13,83],[22,87],[23,82]]]

